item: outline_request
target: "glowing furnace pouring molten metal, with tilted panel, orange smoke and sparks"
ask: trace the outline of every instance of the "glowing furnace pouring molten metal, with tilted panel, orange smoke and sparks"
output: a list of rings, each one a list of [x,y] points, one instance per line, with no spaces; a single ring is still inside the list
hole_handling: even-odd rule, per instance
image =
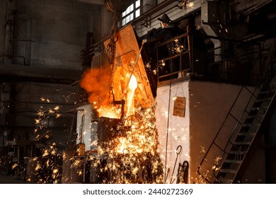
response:
[[[92,104],[86,112],[92,122],[84,125],[93,129],[84,175],[96,183],[159,183],[163,169],[156,151],[154,97],[132,26],[104,45],[108,55],[96,55],[81,81]],[[80,134],[79,139],[87,141]]]

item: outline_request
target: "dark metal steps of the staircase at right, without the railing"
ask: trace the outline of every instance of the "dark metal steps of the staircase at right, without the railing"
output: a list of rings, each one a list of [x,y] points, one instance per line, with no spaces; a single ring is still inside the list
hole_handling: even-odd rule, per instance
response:
[[[214,182],[232,183],[251,148],[255,136],[260,131],[261,124],[268,115],[268,110],[275,100],[275,90],[262,86],[255,96],[255,102],[250,110],[246,110],[246,119],[241,124],[238,133],[228,142],[223,153],[224,161],[217,164]]]

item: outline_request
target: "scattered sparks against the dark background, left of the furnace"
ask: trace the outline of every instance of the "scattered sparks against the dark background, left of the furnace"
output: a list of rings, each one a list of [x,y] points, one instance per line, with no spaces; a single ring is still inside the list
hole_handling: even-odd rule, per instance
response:
[[[62,89],[57,89],[60,91]],[[75,93],[68,93],[69,95],[63,95],[64,100],[71,104],[76,104],[76,101],[71,101]],[[38,141],[38,148],[41,149],[40,156],[32,158],[31,161],[28,161],[28,169],[30,171],[26,175],[26,181],[33,183],[53,183],[60,182],[62,178],[60,165],[60,158],[62,158],[60,151],[56,148],[56,143],[50,144],[50,138],[52,138],[52,129],[49,129],[49,124],[52,122],[53,118],[62,117],[62,114],[59,112],[62,109],[62,106],[52,104],[51,98],[40,97],[41,105],[37,112],[37,117],[34,122],[36,128],[34,129],[35,139]],[[73,100],[74,100],[73,99]],[[65,126],[65,125],[64,125]],[[60,149],[60,148],[59,148]],[[37,153],[35,154],[37,155]],[[33,163],[31,163],[33,162]],[[16,168],[16,165],[13,165]]]

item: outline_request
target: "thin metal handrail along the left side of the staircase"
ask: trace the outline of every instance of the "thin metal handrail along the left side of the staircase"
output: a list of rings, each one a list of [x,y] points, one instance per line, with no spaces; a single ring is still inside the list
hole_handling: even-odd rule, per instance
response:
[[[255,86],[253,91],[251,91],[251,89],[249,89],[247,86],[244,86],[244,85],[241,86],[240,91],[236,95],[234,103],[231,105],[229,111],[227,112],[227,115],[226,115],[224,121],[222,122],[221,127],[219,127],[217,134],[214,136],[214,139],[213,139],[211,145],[205,152],[205,155],[203,156],[202,161],[200,162],[200,165],[197,168],[197,173],[199,173],[199,175],[205,181],[207,181],[209,183],[214,182],[214,180],[217,180],[217,181],[220,180],[217,177],[219,166],[222,165],[222,163],[224,163],[224,159],[229,154],[229,149],[231,148],[231,146],[234,146],[234,139],[236,139],[236,136],[237,136],[239,130],[241,129],[242,124],[244,124],[244,121],[246,120],[249,110],[251,110],[251,107],[252,107],[253,103],[255,102],[255,99],[258,97],[258,93],[260,92],[261,87],[263,86],[264,83],[269,83],[269,81],[267,79],[270,78],[269,66],[272,63],[272,57],[275,54],[275,41],[272,43],[272,45],[268,45],[268,47],[270,48],[270,53],[268,55],[268,59],[266,59],[266,65],[263,69],[264,75],[260,76],[260,78],[259,78],[260,81],[258,82],[257,86]],[[262,57],[259,57],[259,58],[261,59]],[[242,110],[241,115],[235,116],[232,113],[232,111],[236,107],[237,103],[240,103],[240,101],[244,99],[243,91],[246,91],[247,93],[249,93],[250,96],[249,96],[248,102],[246,103],[246,106]],[[222,141],[219,141],[219,136],[224,134],[224,132],[225,132],[224,126],[226,126],[226,124],[229,123],[229,120],[231,118],[234,119],[236,124],[234,124],[234,128],[233,128],[232,132],[230,133],[228,141],[226,142],[226,144],[223,145]],[[256,120],[256,121],[260,122],[259,120]],[[219,145],[219,144],[222,144],[222,145]],[[236,148],[238,149],[238,151],[241,151],[240,148],[238,148],[238,147],[236,147]],[[217,153],[218,156],[216,156],[215,153]],[[243,151],[241,151],[241,153],[243,153]],[[246,154],[246,153],[244,153],[244,154]],[[215,158],[217,158],[219,160],[215,164],[210,164],[209,162],[212,161],[212,159],[209,160],[209,158],[207,156],[211,156],[212,159],[214,159],[214,161],[216,161]],[[205,169],[204,164],[206,162],[209,163],[208,164],[209,169],[207,168],[205,170],[205,173],[203,173],[202,169]],[[213,170],[212,175],[208,175],[209,170]]]

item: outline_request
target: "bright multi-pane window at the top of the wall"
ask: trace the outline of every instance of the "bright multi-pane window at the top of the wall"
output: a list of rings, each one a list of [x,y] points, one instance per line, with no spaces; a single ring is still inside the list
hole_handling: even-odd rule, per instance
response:
[[[122,13],[122,25],[130,23],[134,18],[137,18],[141,14],[142,0],[135,1],[134,4],[128,6],[127,10]]]

